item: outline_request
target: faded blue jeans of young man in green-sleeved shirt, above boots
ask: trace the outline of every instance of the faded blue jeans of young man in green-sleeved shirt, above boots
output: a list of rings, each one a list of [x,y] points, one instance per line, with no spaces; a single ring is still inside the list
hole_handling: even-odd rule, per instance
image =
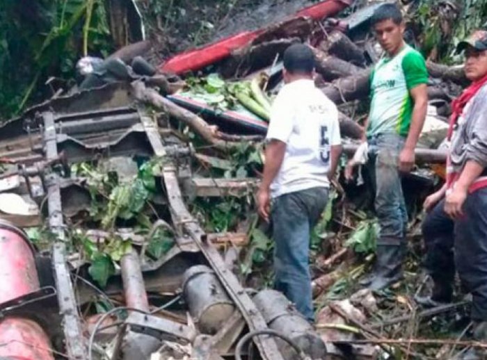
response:
[[[405,138],[395,133],[369,136],[369,163],[376,193],[375,209],[380,225],[377,245],[401,245],[406,236],[408,213],[399,174],[399,154]]]

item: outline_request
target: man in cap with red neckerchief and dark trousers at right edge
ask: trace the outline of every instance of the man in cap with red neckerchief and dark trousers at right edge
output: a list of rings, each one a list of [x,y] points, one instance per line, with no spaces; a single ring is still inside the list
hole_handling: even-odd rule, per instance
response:
[[[474,338],[487,341],[487,31],[458,44],[472,81],[452,103],[447,181],[424,202],[426,270],[433,278],[426,306],[451,302],[455,268],[472,294]],[[453,251],[455,250],[455,251]],[[471,351],[463,359],[486,359]]]

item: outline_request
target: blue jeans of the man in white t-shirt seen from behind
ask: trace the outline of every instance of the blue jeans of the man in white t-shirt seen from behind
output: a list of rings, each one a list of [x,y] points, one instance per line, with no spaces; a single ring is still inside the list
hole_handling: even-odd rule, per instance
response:
[[[328,188],[310,188],[273,199],[274,288],[314,320],[309,267],[310,232],[328,200]]]

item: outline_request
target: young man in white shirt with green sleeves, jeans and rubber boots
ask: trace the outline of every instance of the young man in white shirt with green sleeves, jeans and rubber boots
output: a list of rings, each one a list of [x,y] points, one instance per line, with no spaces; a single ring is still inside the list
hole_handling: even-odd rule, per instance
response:
[[[377,291],[402,277],[408,215],[401,172],[409,172],[415,163],[426,116],[428,72],[421,54],[404,42],[404,21],[397,6],[379,7],[371,22],[385,51],[370,78],[372,102],[364,136],[380,235],[374,271],[361,284]]]

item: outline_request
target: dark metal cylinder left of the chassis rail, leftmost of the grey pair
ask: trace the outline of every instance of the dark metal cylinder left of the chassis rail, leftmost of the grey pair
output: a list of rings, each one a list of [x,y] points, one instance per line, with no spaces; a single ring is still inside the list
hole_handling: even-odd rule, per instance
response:
[[[196,326],[204,334],[215,334],[235,310],[215,273],[206,265],[195,265],[184,272],[183,294]]]

